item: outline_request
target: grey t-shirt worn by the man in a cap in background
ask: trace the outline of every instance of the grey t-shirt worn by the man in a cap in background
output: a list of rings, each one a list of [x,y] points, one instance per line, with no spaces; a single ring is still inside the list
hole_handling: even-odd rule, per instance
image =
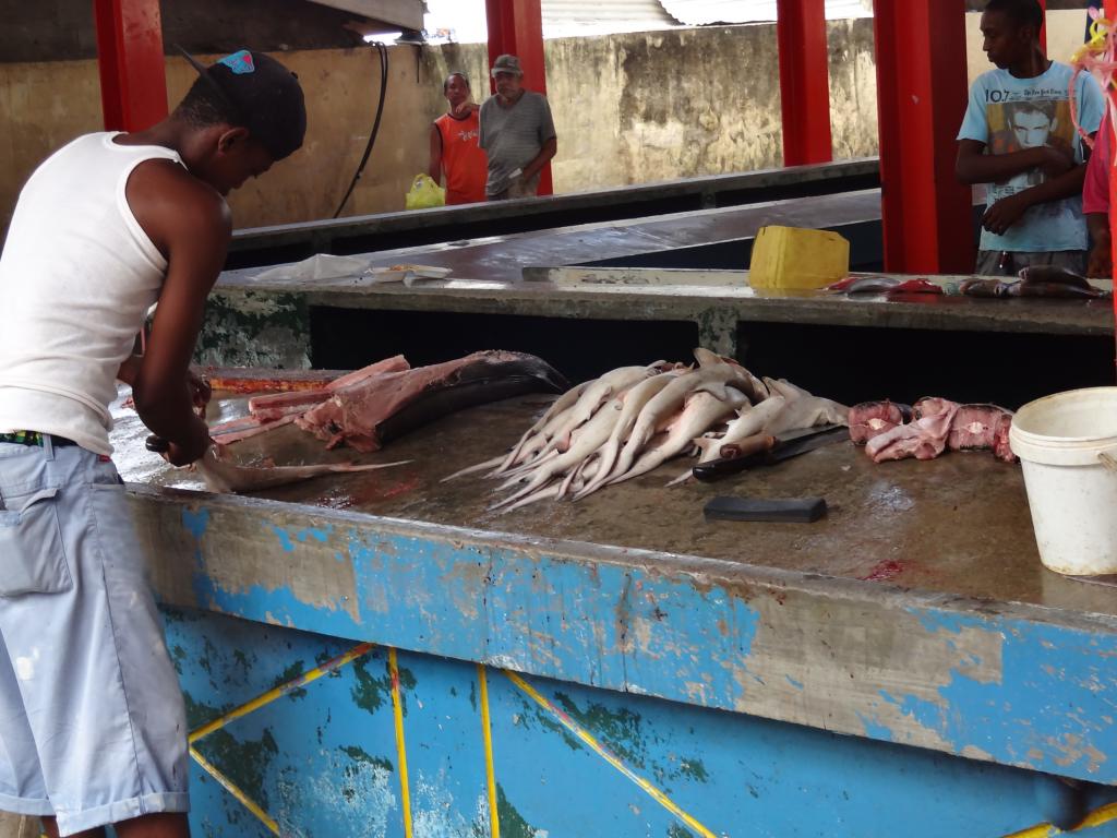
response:
[[[496,96],[481,105],[478,144],[489,159],[487,194],[508,188],[508,175],[532,162],[551,137],[555,136],[551,106],[542,93],[524,91],[512,107],[502,107]]]

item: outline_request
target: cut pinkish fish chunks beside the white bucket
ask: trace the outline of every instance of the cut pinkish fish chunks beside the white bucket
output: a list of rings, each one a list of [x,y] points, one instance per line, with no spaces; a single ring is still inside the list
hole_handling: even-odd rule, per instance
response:
[[[907,415],[903,407],[886,400],[850,408],[850,438],[865,445],[873,463],[934,459],[945,450],[992,450],[997,459],[1015,461],[1009,446],[1011,410],[941,398],[920,399]]]

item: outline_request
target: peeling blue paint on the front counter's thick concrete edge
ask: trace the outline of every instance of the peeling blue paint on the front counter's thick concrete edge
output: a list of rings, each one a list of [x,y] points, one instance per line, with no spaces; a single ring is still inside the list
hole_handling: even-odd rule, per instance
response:
[[[199,545],[194,591],[203,608],[688,705],[739,712],[787,694],[771,677],[765,685],[770,670],[751,659],[762,613],[755,594],[699,587],[679,571],[347,524],[273,527],[284,550],[305,543],[352,565],[352,591],[307,603],[289,585],[219,589],[202,570],[208,513],[184,512],[182,521]],[[918,695],[881,691],[882,701],[948,752],[1117,782],[1117,760],[1106,762],[1117,718],[1117,669],[1107,661],[1117,659],[1117,637],[977,611],[906,613],[915,618],[907,630],[947,653],[943,680]],[[812,679],[784,677],[818,699]],[[872,696],[857,701],[855,730],[860,720],[866,736],[907,741],[877,715]]]

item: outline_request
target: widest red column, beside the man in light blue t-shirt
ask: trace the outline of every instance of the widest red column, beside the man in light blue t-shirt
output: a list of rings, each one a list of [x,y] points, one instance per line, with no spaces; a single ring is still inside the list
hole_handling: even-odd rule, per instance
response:
[[[954,175],[965,0],[873,0],[885,268],[968,273],[972,193]]]

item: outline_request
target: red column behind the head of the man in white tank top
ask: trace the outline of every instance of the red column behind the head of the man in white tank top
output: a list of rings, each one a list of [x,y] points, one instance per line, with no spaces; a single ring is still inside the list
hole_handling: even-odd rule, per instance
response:
[[[159,0],[94,0],[101,103],[108,131],[140,131],[166,116]]]

